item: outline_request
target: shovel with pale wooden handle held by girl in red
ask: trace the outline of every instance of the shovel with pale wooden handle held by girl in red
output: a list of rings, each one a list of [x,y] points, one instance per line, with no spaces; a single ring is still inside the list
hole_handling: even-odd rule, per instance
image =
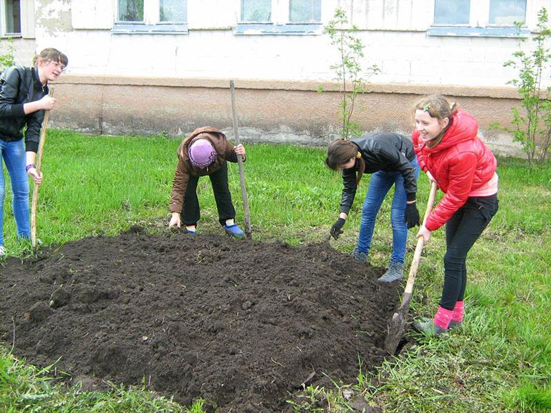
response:
[[[423,225],[426,223],[426,218],[433,209],[436,196],[436,182],[433,182],[430,186],[430,195],[428,195],[428,202],[426,204],[426,212],[423,217]],[[409,302],[413,296],[413,283],[415,282],[415,275],[417,274],[417,267],[419,267],[419,260],[421,260],[421,253],[423,252],[424,240],[423,237],[417,239],[417,246],[415,246],[415,253],[413,254],[413,261],[409,268],[408,282],[404,290],[404,297],[402,298],[402,305],[392,316],[391,322],[388,323],[388,336],[384,340],[384,348],[390,354],[395,354],[398,344],[404,335],[406,326],[406,315],[409,310]]]

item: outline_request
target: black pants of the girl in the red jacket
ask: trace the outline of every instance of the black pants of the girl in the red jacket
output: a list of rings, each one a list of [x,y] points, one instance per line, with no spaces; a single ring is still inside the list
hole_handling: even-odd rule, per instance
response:
[[[463,301],[467,253],[497,213],[497,204],[497,195],[470,197],[446,222],[444,289],[440,299],[440,306],[446,310],[453,310],[457,301]]]

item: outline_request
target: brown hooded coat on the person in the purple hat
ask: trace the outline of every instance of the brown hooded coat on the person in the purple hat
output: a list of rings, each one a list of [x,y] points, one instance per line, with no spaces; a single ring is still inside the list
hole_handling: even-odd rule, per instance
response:
[[[188,149],[189,145],[197,139],[208,139],[218,156],[214,162],[206,168],[198,168],[191,165],[189,160]],[[187,138],[185,138],[178,147],[178,164],[174,172],[174,181],[172,182],[172,193],[170,196],[170,211],[182,212],[184,204],[185,190],[189,176],[207,176],[220,169],[222,164],[229,162],[237,162],[236,151],[222,132],[219,129],[211,126],[204,126],[195,129]]]

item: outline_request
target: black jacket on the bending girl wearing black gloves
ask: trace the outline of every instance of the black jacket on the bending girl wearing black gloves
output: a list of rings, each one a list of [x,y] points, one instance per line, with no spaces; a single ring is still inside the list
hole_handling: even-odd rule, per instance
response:
[[[403,135],[393,133],[371,133],[361,138],[351,139],[362,153],[365,161],[364,173],[377,171],[399,171],[404,176],[404,188],[408,200],[415,199],[417,177],[411,161],[415,159],[413,144]],[[356,173],[359,163],[350,169],[342,170],[344,188],[340,201],[340,211],[349,213],[356,195]]]

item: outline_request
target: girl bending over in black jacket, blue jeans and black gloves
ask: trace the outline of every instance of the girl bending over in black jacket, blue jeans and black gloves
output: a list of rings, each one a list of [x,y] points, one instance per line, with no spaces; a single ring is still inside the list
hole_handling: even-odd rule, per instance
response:
[[[362,208],[360,236],[354,257],[366,262],[375,218],[388,191],[394,185],[391,209],[393,251],[388,271],[380,282],[393,282],[404,277],[403,265],[406,255],[408,228],[419,225],[419,211],[415,205],[419,165],[413,145],[399,134],[373,133],[352,140],[333,140],[327,149],[326,165],[342,169],[342,198],[340,215],[331,227],[331,235],[337,239],[354,201],[357,184],[364,172],[373,173]]]

